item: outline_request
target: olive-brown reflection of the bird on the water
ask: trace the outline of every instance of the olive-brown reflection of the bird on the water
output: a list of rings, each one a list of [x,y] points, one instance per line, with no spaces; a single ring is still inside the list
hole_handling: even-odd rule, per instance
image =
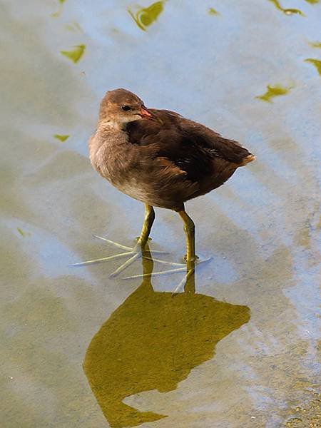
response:
[[[143,272],[153,272],[152,258],[143,259]],[[151,389],[175,389],[193,367],[213,357],[223,337],[249,319],[247,306],[195,293],[194,275],[175,296],[154,291],[151,277],[144,277],[93,337],[83,364],[111,427],[134,427],[165,417],[140,412],[123,399]]]

